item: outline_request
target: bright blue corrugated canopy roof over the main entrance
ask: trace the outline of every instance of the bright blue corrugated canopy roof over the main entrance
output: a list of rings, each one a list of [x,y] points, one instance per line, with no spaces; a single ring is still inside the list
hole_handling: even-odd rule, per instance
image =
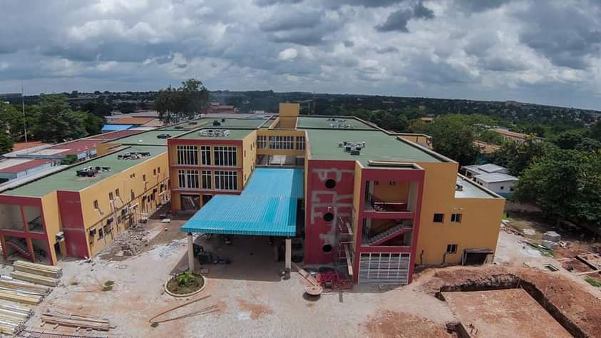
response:
[[[240,195],[215,195],[185,222],[183,232],[294,236],[302,169],[257,168]]]

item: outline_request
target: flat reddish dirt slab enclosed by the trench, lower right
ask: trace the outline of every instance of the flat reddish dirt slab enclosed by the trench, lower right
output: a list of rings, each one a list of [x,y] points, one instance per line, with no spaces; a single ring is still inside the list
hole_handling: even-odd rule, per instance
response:
[[[523,289],[443,292],[443,297],[472,337],[513,338],[515,332],[533,338],[572,337]]]

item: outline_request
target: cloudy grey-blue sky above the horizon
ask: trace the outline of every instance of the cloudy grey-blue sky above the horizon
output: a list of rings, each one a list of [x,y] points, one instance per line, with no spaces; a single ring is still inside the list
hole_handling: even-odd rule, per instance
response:
[[[212,89],[601,110],[600,0],[0,0],[0,92]]]

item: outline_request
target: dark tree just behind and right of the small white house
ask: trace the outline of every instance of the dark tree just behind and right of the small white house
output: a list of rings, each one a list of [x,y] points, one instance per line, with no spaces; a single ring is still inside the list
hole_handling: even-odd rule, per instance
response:
[[[535,158],[545,155],[553,145],[529,137],[524,143],[505,142],[500,149],[490,155],[490,161],[508,168],[511,175],[520,176]]]

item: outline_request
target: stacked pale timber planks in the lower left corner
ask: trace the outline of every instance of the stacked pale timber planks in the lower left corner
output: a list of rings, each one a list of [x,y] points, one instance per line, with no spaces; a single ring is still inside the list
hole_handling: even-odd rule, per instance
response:
[[[34,315],[31,306],[60,282],[63,271],[31,262],[16,261],[11,276],[0,276],[0,333],[18,334],[25,322]],[[51,287],[50,287],[51,286]]]

